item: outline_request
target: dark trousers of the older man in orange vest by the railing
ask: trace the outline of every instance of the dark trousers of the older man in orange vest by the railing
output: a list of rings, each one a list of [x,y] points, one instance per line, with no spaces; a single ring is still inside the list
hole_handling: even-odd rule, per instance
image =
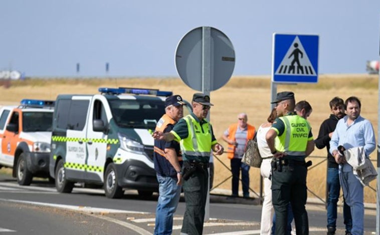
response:
[[[243,196],[249,197],[249,169],[250,166],[242,163],[241,158],[231,159],[231,171],[232,171],[232,195],[239,195],[239,175],[240,169],[242,170],[242,188]]]

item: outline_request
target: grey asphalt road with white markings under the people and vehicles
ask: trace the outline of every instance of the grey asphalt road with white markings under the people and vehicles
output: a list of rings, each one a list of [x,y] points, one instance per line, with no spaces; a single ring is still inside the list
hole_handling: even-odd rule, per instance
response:
[[[34,181],[19,186],[9,175],[0,175],[1,234],[152,234],[157,195],[141,199],[128,190],[121,199],[108,199],[102,189],[76,187],[57,193],[53,184]],[[310,234],[326,234],[323,205],[307,205]],[[179,234],[184,212],[178,204],[173,234]],[[259,234],[261,205],[254,200],[211,196],[210,220],[204,234]],[[365,234],[375,231],[375,211],[366,210]],[[341,213],[338,234],[344,234]]]

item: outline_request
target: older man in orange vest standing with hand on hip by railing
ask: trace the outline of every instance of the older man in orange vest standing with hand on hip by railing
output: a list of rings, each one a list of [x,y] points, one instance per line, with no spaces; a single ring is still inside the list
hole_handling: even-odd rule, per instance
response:
[[[239,196],[239,175],[242,171],[243,196],[249,197],[250,166],[242,162],[247,142],[255,136],[255,127],[248,124],[246,113],[238,115],[238,122],[231,124],[222,138],[228,143],[227,157],[231,159],[232,196]]]

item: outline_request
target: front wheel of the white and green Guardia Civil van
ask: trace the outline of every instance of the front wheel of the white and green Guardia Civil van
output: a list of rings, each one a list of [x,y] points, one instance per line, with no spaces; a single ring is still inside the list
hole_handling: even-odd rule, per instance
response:
[[[104,176],[104,191],[106,196],[108,198],[120,198],[124,194],[124,191],[117,183],[115,164],[108,164]]]

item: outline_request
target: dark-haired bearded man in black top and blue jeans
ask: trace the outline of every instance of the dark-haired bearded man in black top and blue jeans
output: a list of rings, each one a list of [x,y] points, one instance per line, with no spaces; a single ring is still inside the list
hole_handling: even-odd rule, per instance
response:
[[[330,140],[338,121],[345,116],[344,101],[339,97],[334,97],[330,103],[330,117],[324,120],[319,128],[318,138],[315,146],[319,149],[326,147],[327,150],[327,235],[334,235],[336,230],[337,203],[340,192],[339,164],[336,163],[330,151]],[[352,218],[349,206],[343,197],[343,222],[346,234],[351,232]]]

